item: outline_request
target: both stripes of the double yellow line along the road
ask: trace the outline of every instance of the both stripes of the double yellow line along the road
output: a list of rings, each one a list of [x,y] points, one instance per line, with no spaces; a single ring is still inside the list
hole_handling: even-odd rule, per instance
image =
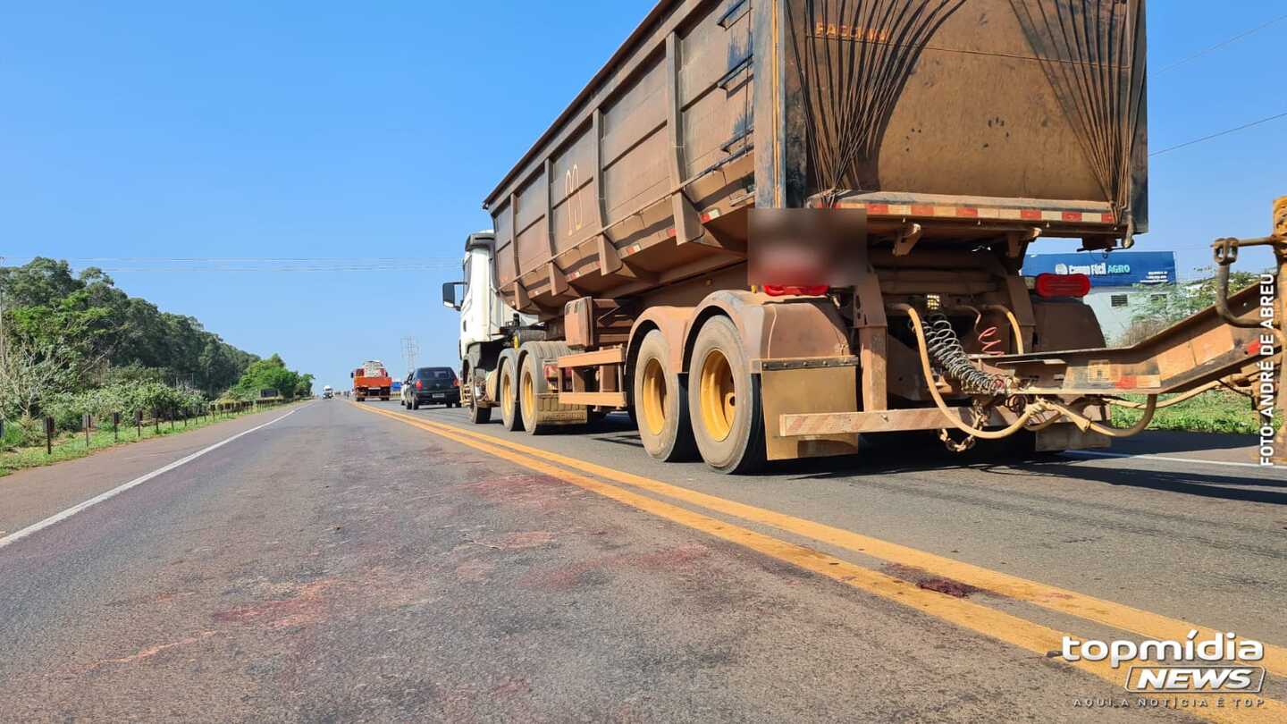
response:
[[[703,508],[705,510],[723,515],[740,518],[743,520],[759,523],[842,548],[861,553],[889,563],[921,568],[938,576],[949,577],[970,586],[986,589],[1017,600],[1023,600],[1042,608],[1067,613],[1088,621],[1094,621],[1124,631],[1139,634],[1149,639],[1184,640],[1189,631],[1197,629],[1199,636],[1208,638],[1216,631],[1210,627],[1197,626],[1185,621],[1169,618],[1157,613],[1140,611],[1120,603],[1097,599],[1055,586],[1048,586],[1035,581],[1028,581],[1018,576],[990,571],[969,563],[961,563],[950,558],[943,558],[912,548],[882,541],[869,536],[862,536],[852,531],[835,528],[785,515],[763,508],[745,505],[741,502],[700,493],[689,488],[672,486],[642,475],[623,473],[611,468],[604,468],[592,462],[584,462],[573,457],[550,452],[546,450],[519,444],[493,435],[465,430],[454,425],[431,423],[411,415],[390,412],[378,407],[359,406],[360,410],[393,417],[400,423],[431,432],[453,442],[472,447],[488,455],[508,460],[523,468],[550,475],[596,492],[605,497],[616,500],[638,510],[651,513],[659,518],[687,526],[707,535],[735,542],[749,548],[763,555],[782,560],[812,571],[821,576],[840,581],[866,593],[894,600],[897,603],[916,608],[936,618],[949,621],[970,631],[986,635],[992,639],[1017,645],[1037,656],[1046,657],[1050,652],[1062,648],[1063,631],[1058,631],[1040,624],[1033,624],[1024,618],[1004,613],[995,608],[974,603],[972,600],[954,598],[918,587],[915,584],[902,578],[864,568],[840,558],[820,553],[817,550],[795,545],[727,523],[725,520],[703,515],[681,508],[671,502],[664,502],[654,497],[640,495],[629,490],[609,484],[614,481],[625,486],[638,488],[654,495],[687,505]],[[589,477],[593,475],[593,477]],[[1100,679],[1121,687],[1125,679],[1125,670],[1113,669],[1108,661],[1076,661],[1067,662],[1069,666],[1093,674]],[[1287,649],[1275,645],[1265,645],[1265,657],[1254,665],[1264,666],[1268,672],[1287,675]],[[1127,696],[1125,691],[1122,696]],[[1151,696],[1156,700],[1175,700],[1188,697]],[[1184,709],[1192,714],[1215,721],[1287,721],[1287,705],[1277,700],[1264,700],[1264,705],[1254,709]]]

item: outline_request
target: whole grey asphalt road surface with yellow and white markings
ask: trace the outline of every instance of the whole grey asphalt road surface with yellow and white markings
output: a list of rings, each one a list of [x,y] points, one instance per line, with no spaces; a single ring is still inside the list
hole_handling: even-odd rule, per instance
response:
[[[1282,720],[1287,475],[1239,441],[730,478],[616,416],[282,415],[0,481],[0,720]],[[1250,709],[1048,653],[1189,626],[1272,644]]]

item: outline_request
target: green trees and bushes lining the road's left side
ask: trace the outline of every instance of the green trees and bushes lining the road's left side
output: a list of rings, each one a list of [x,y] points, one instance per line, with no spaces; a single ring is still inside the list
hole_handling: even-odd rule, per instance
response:
[[[220,395],[313,394],[313,376],[238,349],[193,317],[130,296],[98,268],[36,258],[0,267],[0,416],[73,426],[104,406],[185,407]],[[165,388],[165,389],[163,389]],[[169,392],[166,392],[169,390]]]

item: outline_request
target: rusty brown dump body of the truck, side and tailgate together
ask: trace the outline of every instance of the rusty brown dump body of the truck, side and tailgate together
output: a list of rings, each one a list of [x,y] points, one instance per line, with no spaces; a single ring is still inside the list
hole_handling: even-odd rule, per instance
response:
[[[1143,0],[663,0],[488,196],[501,291],[552,318],[665,287],[744,262],[750,206],[820,198],[940,240],[1142,232],[1143,18]]]

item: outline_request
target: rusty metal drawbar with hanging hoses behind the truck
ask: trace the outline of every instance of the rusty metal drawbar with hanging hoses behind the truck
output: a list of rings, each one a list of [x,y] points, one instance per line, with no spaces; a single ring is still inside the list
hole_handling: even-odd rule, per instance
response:
[[[1273,249],[1277,273],[1266,273],[1255,283],[1229,294],[1229,269],[1238,250],[1251,246]],[[1215,304],[1149,339],[1122,348],[1081,349],[1033,354],[1010,354],[974,361],[969,374],[960,374],[951,345],[936,338],[938,331],[910,305],[893,310],[906,313],[916,332],[924,377],[933,380],[938,367],[963,392],[973,393],[974,415],[950,408],[936,385],[931,397],[943,414],[945,428],[965,433],[964,442],[946,438],[952,450],[967,450],[974,438],[996,439],[1021,430],[1039,430],[1055,423],[1072,423],[1081,430],[1108,437],[1127,437],[1148,426],[1157,410],[1183,402],[1216,386],[1248,388],[1256,401],[1260,428],[1260,462],[1287,462],[1287,426],[1274,432],[1274,421],[1287,415],[1287,399],[1278,394],[1283,384],[1281,365],[1284,348],[1283,322],[1287,300],[1278,294],[1278,281],[1287,269],[1287,197],[1274,205],[1274,233],[1257,238],[1221,238],[1212,243],[1218,291]],[[982,390],[979,380],[991,389]],[[1118,397],[1144,395],[1145,402]],[[1163,394],[1174,397],[1161,401]],[[1088,407],[1121,406],[1143,410],[1143,417],[1130,428],[1113,428],[1085,414]],[[1008,425],[986,429],[988,415],[982,411],[1008,407]]]

